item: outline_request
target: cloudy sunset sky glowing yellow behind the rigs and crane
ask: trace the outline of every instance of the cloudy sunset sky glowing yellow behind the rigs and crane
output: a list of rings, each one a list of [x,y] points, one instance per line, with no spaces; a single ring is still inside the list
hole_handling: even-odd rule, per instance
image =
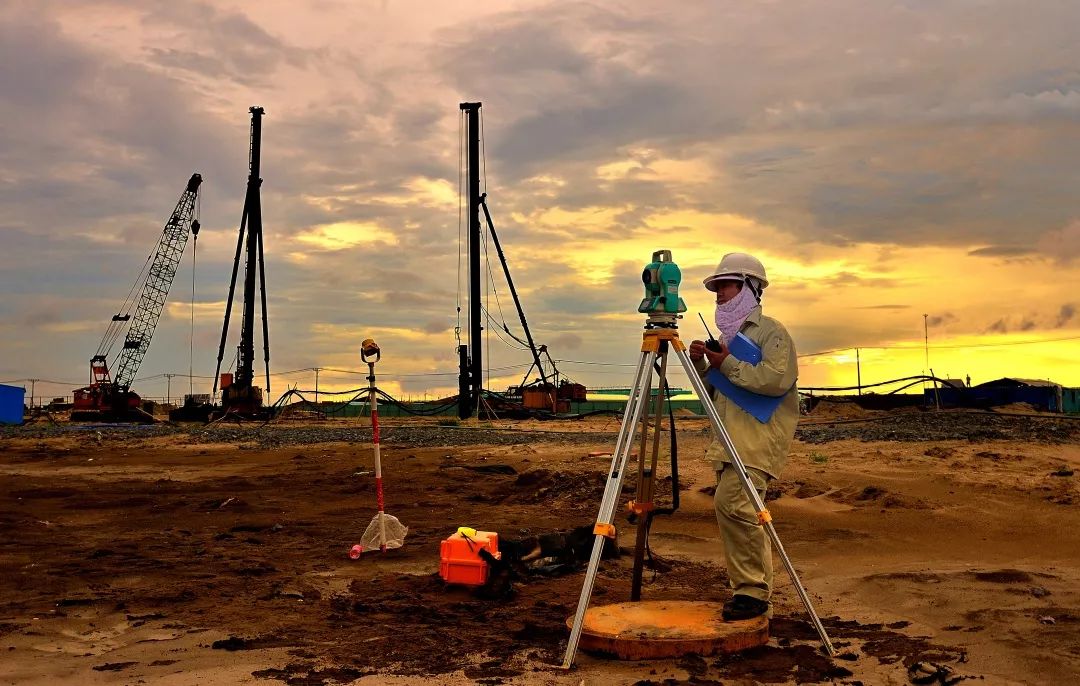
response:
[[[213,374],[260,105],[271,395],[315,366],[362,385],[340,371],[367,337],[391,392],[454,388],[458,104],[478,100],[515,285],[576,380],[630,382],[640,269],[669,248],[686,338],[719,257],[761,258],[802,386],[853,384],[855,348],[864,382],[929,357],[1080,386],[1077,26],[1049,0],[9,0],[0,381],[84,382],[195,171],[193,341],[189,244],[135,388]],[[486,307],[521,336],[491,256]],[[527,353],[483,345],[491,388],[519,380]]]

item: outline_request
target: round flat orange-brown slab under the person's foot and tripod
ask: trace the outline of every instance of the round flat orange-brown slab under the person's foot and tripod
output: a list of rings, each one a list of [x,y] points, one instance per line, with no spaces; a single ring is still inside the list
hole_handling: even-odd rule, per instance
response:
[[[621,660],[737,653],[769,642],[769,620],[724,621],[719,603],[650,601],[599,605],[585,611],[581,649]],[[573,618],[566,620],[573,626]]]

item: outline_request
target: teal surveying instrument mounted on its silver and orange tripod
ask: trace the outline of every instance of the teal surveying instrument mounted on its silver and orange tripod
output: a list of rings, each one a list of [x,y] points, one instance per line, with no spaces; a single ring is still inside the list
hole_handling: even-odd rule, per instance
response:
[[[825,650],[829,656],[836,655],[836,650],[833,647],[832,642],[828,640],[828,634],[825,633],[825,627],[821,623],[818,613],[814,611],[813,603],[811,603],[810,596],[807,594],[806,589],[799,581],[795,567],[787,557],[787,553],[784,552],[784,547],[780,542],[777,529],[772,525],[772,515],[766,509],[765,503],[757,494],[757,489],[751,482],[750,476],[746,473],[746,467],[739,457],[739,452],[735,449],[730,434],[728,434],[716,407],[712,403],[712,399],[705,388],[704,381],[699,376],[698,371],[693,365],[693,361],[690,360],[690,354],[687,351],[686,346],[684,346],[683,341],[679,340],[678,320],[680,319],[680,312],[686,311],[686,305],[684,304],[683,298],[678,296],[678,286],[681,278],[683,274],[678,265],[672,261],[671,251],[665,250],[654,252],[652,254],[652,261],[647,265],[645,270],[642,272],[642,281],[645,283],[645,298],[637,307],[637,311],[647,315],[645,322],[645,333],[642,341],[642,358],[637,364],[637,371],[634,373],[634,382],[630,390],[630,399],[626,402],[626,409],[622,415],[622,426],[619,429],[619,436],[616,440],[615,452],[611,457],[611,467],[608,471],[607,485],[604,489],[604,498],[600,501],[600,510],[596,516],[596,524],[593,528],[593,533],[596,535],[596,538],[593,542],[592,556],[589,560],[589,568],[585,573],[584,584],[581,588],[581,597],[578,601],[578,609],[573,616],[573,624],[570,629],[570,640],[567,643],[566,656],[563,659],[563,669],[570,669],[570,667],[572,667],[573,658],[578,651],[578,644],[581,641],[583,623],[585,621],[585,613],[589,609],[589,603],[593,594],[593,587],[596,583],[596,573],[599,567],[600,554],[604,550],[604,539],[613,539],[616,537],[613,524],[615,511],[619,505],[620,494],[622,493],[622,481],[626,471],[626,463],[630,459],[631,443],[634,440],[634,433],[637,430],[638,422],[642,422],[642,435],[639,452],[640,457],[638,459],[637,468],[637,497],[634,501],[631,501],[630,506],[631,511],[638,515],[638,550],[635,551],[634,555],[634,575],[631,601],[638,601],[640,598],[643,565],[640,549],[644,548],[645,537],[648,535],[647,515],[653,509],[652,475],[657,468],[657,458],[660,449],[660,421],[662,418],[664,390],[666,388],[667,354],[672,350],[675,351],[675,357],[678,358],[678,361],[681,363],[687,377],[690,379],[690,385],[693,387],[694,393],[698,395],[702,407],[704,407],[705,413],[708,415],[714,435],[720,440],[724,447],[727,449],[728,456],[731,458],[731,466],[739,475],[739,481],[742,484],[743,492],[746,494],[746,497],[754,506],[754,510],[757,512],[758,524],[765,527],[765,530],[769,536],[769,540],[772,542],[773,550],[777,551],[777,554],[783,561],[784,568],[787,569],[787,574],[795,586],[795,591],[798,593],[799,598],[802,601],[802,605],[810,615],[810,619],[813,622],[814,629],[818,631],[818,635],[821,637],[821,642]],[[658,373],[660,378],[658,381],[658,392],[651,417],[651,426],[654,429],[651,445],[651,463],[646,467],[645,448],[648,446],[650,421],[649,417],[644,417],[643,421],[643,415],[645,414],[645,406],[650,400],[652,371],[658,362]],[[767,640],[767,626],[765,628],[764,636],[765,640]],[[764,641],[761,641],[761,643],[764,643]]]

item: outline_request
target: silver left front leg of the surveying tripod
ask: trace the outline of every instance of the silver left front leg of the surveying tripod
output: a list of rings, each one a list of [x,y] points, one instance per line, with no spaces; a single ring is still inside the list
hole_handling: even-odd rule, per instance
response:
[[[638,362],[637,372],[634,375],[634,385],[630,389],[630,400],[626,401],[626,409],[622,416],[622,426],[619,428],[619,438],[616,440],[615,454],[611,456],[611,468],[608,471],[607,486],[604,488],[604,499],[600,501],[600,511],[596,516],[596,538],[593,541],[593,552],[589,557],[589,568],[585,571],[585,580],[581,587],[581,597],[578,598],[578,609],[573,615],[573,627],[570,629],[570,638],[566,644],[566,655],[563,657],[563,669],[570,669],[573,664],[573,657],[578,653],[578,643],[581,641],[581,624],[585,619],[585,610],[589,609],[589,602],[593,596],[593,586],[596,583],[596,570],[600,564],[600,555],[604,553],[604,539],[606,533],[611,528],[611,519],[615,509],[619,505],[619,495],[622,492],[622,476],[626,470],[626,462],[630,459],[630,446],[634,440],[634,428],[640,421],[642,411],[648,402],[649,378],[652,373],[652,362],[657,359],[657,353],[643,351],[642,360]],[[644,457],[643,457],[644,459]]]

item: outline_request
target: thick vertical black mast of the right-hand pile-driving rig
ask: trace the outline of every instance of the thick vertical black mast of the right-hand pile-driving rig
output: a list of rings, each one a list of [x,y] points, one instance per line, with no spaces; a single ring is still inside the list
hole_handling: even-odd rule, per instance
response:
[[[481,359],[482,325],[480,311],[480,103],[461,103],[469,139],[469,346],[458,347],[458,416],[471,417],[480,407],[484,389]]]

